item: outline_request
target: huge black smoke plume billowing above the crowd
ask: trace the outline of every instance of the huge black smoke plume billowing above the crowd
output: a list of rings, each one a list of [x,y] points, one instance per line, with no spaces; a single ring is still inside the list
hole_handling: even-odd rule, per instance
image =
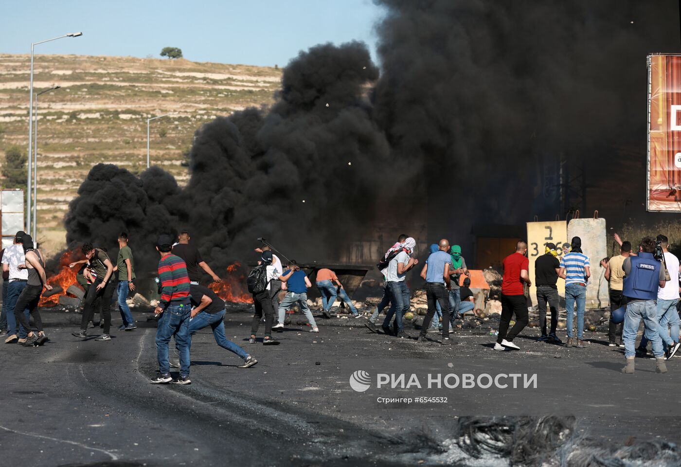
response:
[[[646,54],[678,49],[675,2],[377,3],[380,76],[357,42],[301,52],[272,108],[197,131],[185,189],[158,168],[93,167],[67,214],[69,245],[115,245],[128,230],[153,270],[157,234],[187,228],[219,272],[252,261],[259,236],[333,261],[379,225],[423,222],[423,242],[470,252],[475,224],[565,219],[561,158],[605,187],[587,203],[601,216],[642,201]],[[620,160],[621,146],[639,159]]]

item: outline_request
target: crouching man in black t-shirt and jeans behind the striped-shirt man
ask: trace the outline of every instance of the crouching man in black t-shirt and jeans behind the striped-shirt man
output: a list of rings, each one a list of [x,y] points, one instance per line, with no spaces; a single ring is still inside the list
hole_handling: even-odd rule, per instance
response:
[[[239,368],[249,368],[257,364],[255,357],[251,357],[244,349],[225,337],[225,302],[214,291],[203,285],[191,285],[189,293],[191,305],[195,307],[189,315],[189,335],[193,336],[199,329],[210,325],[215,342],[223,349],[234,352],[244,359],[244,364]]]

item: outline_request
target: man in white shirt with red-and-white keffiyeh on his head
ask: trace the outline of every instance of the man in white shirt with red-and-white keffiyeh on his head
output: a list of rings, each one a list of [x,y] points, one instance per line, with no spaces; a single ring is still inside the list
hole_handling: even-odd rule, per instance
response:
[[[409,337],[405,334],[405,330],[402,328],[402,316],[405,312],[409,311],[409,287],[405,283],[405,276],[407,272],[411,270],[415,265],[419,263],[418,259],[411,258],[414,252],[414,247],[416,246],[416,240],[409,237],[405,242],[400,245],[401,250],[387,265],[387,269],[383,270],[385,275],[386,287],[390,291],[390,310],[388,310],[387,315],[385,315],[385,321],[383,321],[383,332],[385,334],[391,334],[390,332],[390,321],[393,315],[395,316],[395,330],[396,336],[398,338]]]

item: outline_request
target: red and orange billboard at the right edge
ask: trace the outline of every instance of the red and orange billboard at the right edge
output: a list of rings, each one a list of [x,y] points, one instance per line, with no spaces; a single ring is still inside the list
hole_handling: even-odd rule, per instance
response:
[[[681,211],[681,55],[648,55],[646,209]]]

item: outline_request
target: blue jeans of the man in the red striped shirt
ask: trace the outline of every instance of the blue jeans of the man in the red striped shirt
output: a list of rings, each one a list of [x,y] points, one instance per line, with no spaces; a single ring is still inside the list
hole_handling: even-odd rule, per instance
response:
[[[180,354],[180,376],[189,376],[189,305],[170,305],[159,319],[159,327],[156,329],[156,352],[159,359],[159,372],[170,374],[168,362],[168,342],[175,338],[175,348]]]

